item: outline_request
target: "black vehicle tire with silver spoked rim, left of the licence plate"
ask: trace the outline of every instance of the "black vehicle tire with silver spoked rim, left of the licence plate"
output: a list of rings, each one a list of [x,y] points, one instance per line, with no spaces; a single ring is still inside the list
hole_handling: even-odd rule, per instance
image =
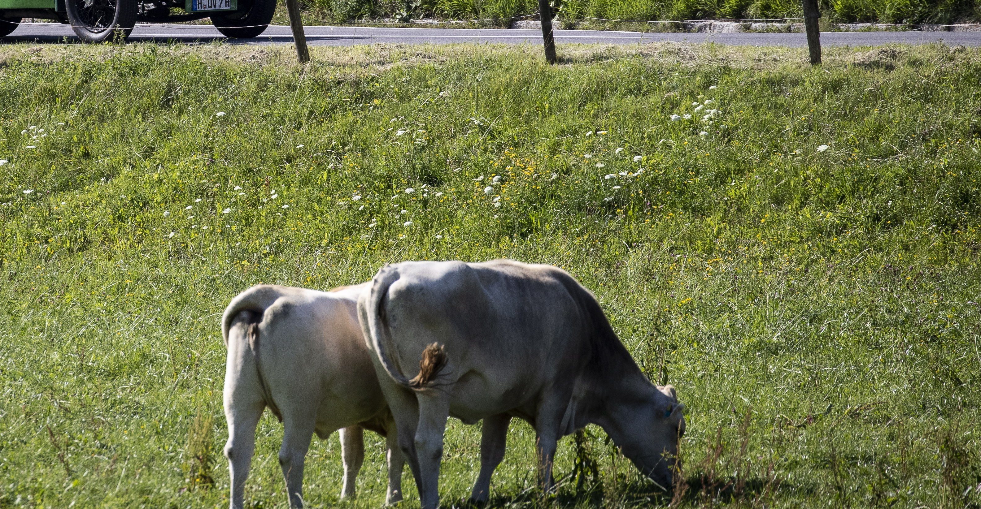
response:
[[[136,0],[65,0],[65,10],[82,42],[126,39],[136,25]]]

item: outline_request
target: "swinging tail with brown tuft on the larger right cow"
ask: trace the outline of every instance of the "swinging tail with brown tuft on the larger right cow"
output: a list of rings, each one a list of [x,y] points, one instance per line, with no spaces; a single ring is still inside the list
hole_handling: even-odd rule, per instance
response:
[[[434,384],[449,358],[443,345],[432,343],[423,350],[422,360],[419,361],[419,375],[409,380],[402,372],[397,349],[391,338],[391,329],[388,327],[385,306],[388,287],[398,278],[398,270],[387,265],[372,280],[371,290],[360,306],[362,327],[365,338],[370,342],[369,346],[375,351],[388,377],[403,387],[422,389]]]

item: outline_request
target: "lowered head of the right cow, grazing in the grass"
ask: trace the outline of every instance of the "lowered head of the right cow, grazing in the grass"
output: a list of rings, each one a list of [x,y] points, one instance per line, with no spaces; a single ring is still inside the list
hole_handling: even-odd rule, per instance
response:
[[[678,441],[685,434],[685,405],[671,385],[650,385],[644,395],[611,408],[603,426],[623,455],[664,489],[674,482]]]

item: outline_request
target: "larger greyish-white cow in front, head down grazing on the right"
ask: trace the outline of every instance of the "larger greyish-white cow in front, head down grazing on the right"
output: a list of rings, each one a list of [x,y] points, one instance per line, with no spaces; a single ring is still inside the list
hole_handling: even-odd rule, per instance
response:
[[[448,416],[484,419],[478,502],[512,416],[538,434],[546,490],[558,438],[591,423],[647,477],[672,485],[684,406],[673,387],[647,381],[593,294],[565,271],[509,260],[388,265],[358,314],[423,509],[439,507]]]

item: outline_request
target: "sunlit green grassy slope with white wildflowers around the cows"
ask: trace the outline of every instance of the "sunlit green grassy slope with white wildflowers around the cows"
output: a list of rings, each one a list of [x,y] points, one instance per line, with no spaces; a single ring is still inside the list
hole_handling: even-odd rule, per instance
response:
[[[0,46],[0,507],[228,504],[233,295],[496,257],[566,268],[678,387],[676,505],[977,507],[981,50],[560,56]],[[672,503],[592,428],[542,496],[510,433],[495,507]],[[284,506],[281,437],[267,413],[253,507]],[[450,423],[447,507],[478,437]],[[369,442],[345,506],[384,500]],[[308,501],[339,482],[335,435]]]

